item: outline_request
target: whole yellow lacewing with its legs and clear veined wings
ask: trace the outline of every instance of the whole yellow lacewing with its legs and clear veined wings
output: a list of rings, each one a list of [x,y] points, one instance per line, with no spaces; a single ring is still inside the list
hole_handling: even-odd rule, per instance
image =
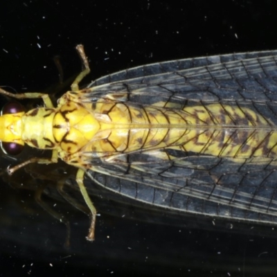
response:
[[[141,202],[195,214],[277,223],[277,51],[199,57],[139,66],[92,82],[84,64],[53,107],[0,118],[3,146],[53,150],[55,163],[79,168],[94,183]],[[16,148],[17,149],[17,148]],[[7,150],[8,151],[8,150]]]

